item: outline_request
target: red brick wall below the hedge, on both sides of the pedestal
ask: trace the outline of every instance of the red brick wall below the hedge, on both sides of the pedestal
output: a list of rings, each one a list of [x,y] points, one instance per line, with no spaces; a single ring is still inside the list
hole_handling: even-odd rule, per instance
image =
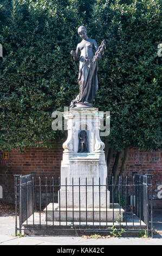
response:
[[[62,141],[53,143],[52,149],[32,148],[27,149],[25,153],[19,150],[12,150],[10,159],[4,160],[2,153],[0,157],[0,185],[5,187],[4,199],[13,200],[14,198],[14,174],[37,175],[59,175],[62,159]],[[115,152],[113,154],[115,159]],[[146,152],[133,148],[129,150],[129,157],[126,166],[126,174],[132,176],[132,173],[154,175],[154,199],[158,199],[158,186],[162,185],[162,164],[160,151]],[[111,173],[111,171],[110,171]]]

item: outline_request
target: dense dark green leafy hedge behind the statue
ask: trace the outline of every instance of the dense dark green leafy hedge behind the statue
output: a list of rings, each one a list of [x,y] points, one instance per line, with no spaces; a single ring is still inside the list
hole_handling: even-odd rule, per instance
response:
[[[159,148],[160,15],[159,0],[1,0],[0,149],[50,147],[63,135],[51,113],[79,92],[70,50],[80,25],[107,44],[94,106],[111,112],[109,145]]]

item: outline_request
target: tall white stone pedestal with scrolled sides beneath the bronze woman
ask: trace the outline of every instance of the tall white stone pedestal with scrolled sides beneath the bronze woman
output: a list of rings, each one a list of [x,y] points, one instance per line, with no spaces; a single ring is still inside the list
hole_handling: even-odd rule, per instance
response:
[[[59,203],[44,209],[48,212],[47,220],[51,220],[51,209],[54,209],[54,220],[61,216],[61,221],[72,221],[73,218],[74,221],[79,218],[92,221],[94,211],[95,221],[99,221],[99,216],[102,222],[110,221],[112,209],[109,208],[106,186],[105,144],[100,139],[103,115],[98,108],[71,108],[63,113],[63,117],[67,120],[68,138],[63,143]],[[78,153],[79,133],[83,130],[87,132],[88,153]],[[117,216],[119,209],[115,210],[114,217],[117,219]]]

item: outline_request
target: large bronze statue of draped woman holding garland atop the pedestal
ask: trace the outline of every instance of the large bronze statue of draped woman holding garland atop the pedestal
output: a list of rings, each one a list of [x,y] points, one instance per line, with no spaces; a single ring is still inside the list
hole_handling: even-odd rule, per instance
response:
[[[82,41],[77,45],[76,51],[71,51],[70,54],[77,60],[80,55],[79,64],[79,95],[70,104],[70,108],[89,108],[93,107],[95,93],[98,90],[98,62],[106,48],[105,40],[102,41],[100,47],[94,39],[88,38],[87,29],[85,26],[78,28],[78,34]],[[93,52],[95,51],[95,54]]]

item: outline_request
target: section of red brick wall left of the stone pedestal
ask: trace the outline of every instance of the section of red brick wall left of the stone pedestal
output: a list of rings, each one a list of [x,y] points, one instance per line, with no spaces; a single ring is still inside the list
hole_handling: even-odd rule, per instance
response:
[[[25,153],[12,150],[10,159],[3,159],[0,153],[0,185],[3,187],[3,200],[14,202],[14,175],[35,173],[37,176],[59,175],[62,159],[62,143],[53,143],[53,148],[27,149]]]

